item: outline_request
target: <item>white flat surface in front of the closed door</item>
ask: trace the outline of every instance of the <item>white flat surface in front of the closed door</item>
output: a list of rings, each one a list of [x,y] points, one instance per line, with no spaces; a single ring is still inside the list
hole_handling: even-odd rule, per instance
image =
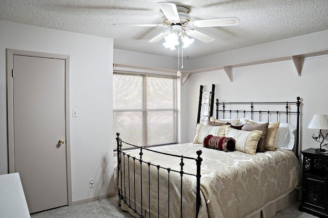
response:
[[[0,175],[0,217],[31,217],[18,173]]]

